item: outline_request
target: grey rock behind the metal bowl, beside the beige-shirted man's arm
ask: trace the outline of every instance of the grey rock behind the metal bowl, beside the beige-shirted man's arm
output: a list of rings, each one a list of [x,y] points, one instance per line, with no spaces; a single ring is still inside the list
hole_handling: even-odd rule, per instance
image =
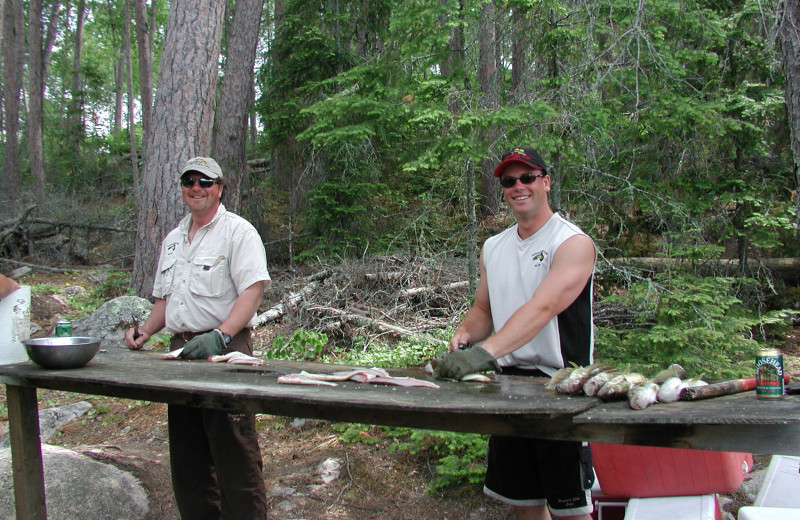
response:
[[[133,325],[134,318],[144,323],[153,304],[138,296],[120,296],[107,301],[85,318],[72,322],[73,336],[100,338],[100,348],[127,348],[125,332]]]

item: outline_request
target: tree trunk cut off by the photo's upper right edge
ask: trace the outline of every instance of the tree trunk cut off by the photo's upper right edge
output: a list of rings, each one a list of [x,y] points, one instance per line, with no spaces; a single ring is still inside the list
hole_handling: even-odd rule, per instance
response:
[[[781,0],[777,9],[777,39],[783,63],[784,96],[792,141],[795,186],[800,186],[800,1]],[[800,234],[800,197],[796,197],[796,232]]]

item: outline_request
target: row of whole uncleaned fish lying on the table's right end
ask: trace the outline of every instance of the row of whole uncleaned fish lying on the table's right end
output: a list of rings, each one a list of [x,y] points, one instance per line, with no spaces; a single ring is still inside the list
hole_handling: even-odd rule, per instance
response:
[[[573,364],[557,371],[545,388],[603,400],[627,399],[631,408],[641,410],[656,402],[677,401],[684,388],[708,384],[701,378],[686,378],[686,371],[678,364],[670,365],[651,378],[629,370],[621,371],[607,363],[585,367]]]

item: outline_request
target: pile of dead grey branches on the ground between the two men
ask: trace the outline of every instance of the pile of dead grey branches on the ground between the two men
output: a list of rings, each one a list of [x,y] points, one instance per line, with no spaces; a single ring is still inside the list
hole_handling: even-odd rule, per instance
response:
[[[258,327],[314,330],[341,346],[392,343],[456,325],[469,308],[466,262],[391,256],[309,272],[272,273]]]

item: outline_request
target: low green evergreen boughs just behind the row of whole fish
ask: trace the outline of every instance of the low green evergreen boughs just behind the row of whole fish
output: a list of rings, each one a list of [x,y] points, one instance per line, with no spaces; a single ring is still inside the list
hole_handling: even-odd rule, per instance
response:
[[[659,275],[606,298],[636,312],[630,328],[599,327],[597,358],[644,374],[671,363],[708,379],[751,375],[759,344],[753,331],[777,315],[761,318],[734,295],[736,280],[691,274]]]

